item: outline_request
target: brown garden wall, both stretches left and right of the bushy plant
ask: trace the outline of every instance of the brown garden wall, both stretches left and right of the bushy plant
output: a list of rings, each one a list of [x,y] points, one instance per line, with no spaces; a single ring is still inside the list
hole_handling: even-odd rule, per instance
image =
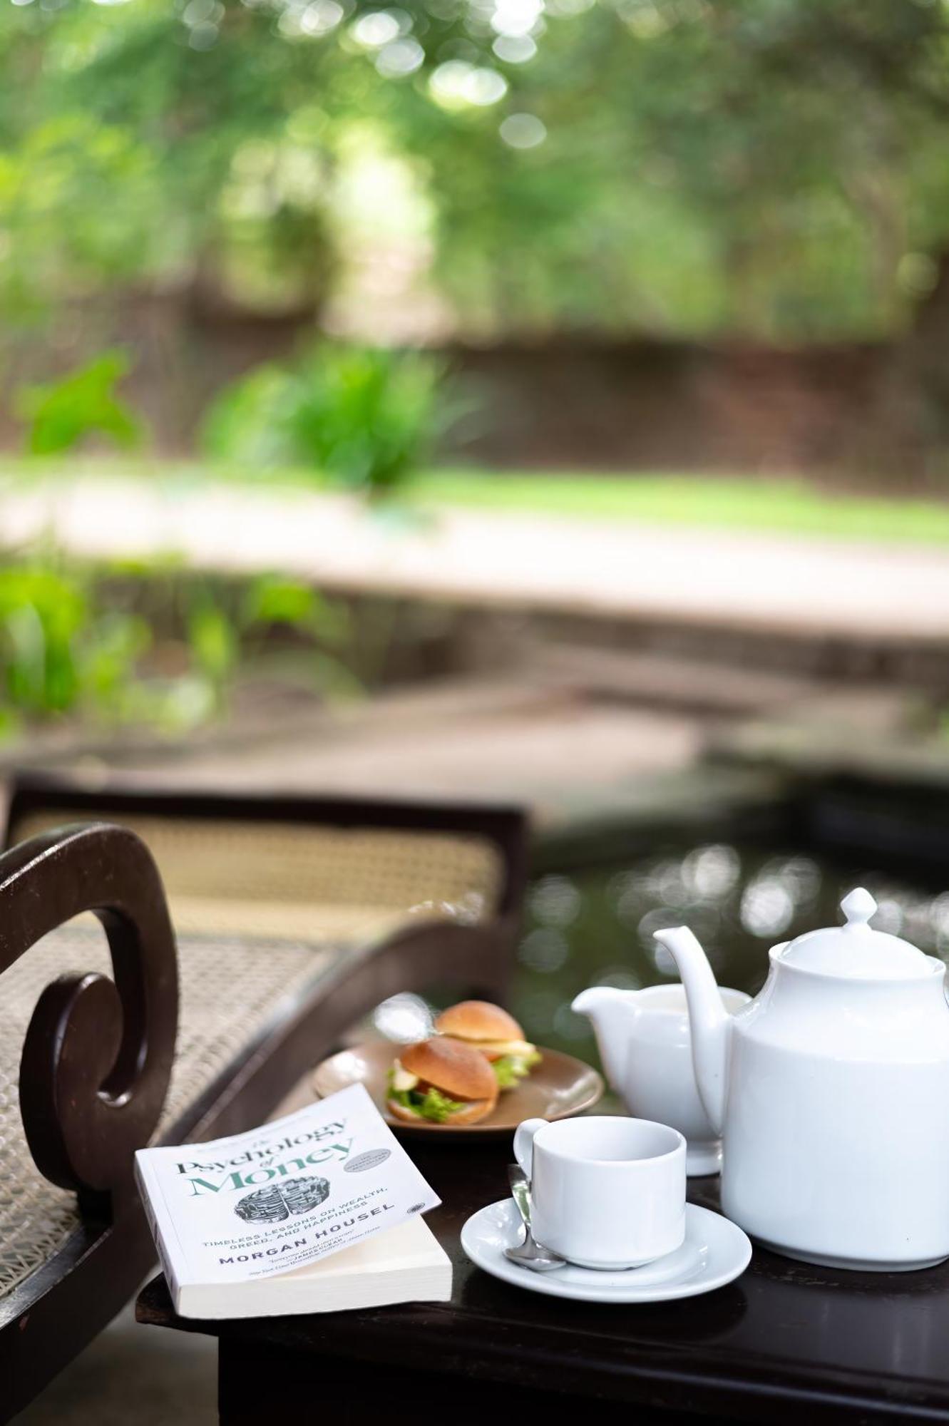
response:
[[[73,312],[53,339],[21,345],[4,364],[7,385],[121,344],[134,359],[128,396],[158,449],[187,455],[221,386],[286,358],[313,329],[311,312],[259,317],[194,294],[141,295],[111,312]],[[447,355],[476,409],[445,455],[502,468],[905,471],[898,351],[596,337],[459,344]],[[0,443],[16,441],[0,422]]]

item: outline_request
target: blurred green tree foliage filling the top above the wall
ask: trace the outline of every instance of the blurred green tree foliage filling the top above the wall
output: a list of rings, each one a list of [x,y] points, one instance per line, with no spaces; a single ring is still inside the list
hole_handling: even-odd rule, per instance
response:
[[[318,312],[366,130],[425,188],[476,332],[872,335],[949,244],[936,0],[31,0],[0,24],[9,319],[142,284]]]

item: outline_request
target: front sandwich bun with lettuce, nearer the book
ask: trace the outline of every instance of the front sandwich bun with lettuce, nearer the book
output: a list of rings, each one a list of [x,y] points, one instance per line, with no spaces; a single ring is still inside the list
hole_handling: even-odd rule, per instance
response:
[[[497,1104],[497,1079],[477,1050],[440,1035],[406,1045],[389,1071],[386,1108],[406,1124],[477,1124]]]

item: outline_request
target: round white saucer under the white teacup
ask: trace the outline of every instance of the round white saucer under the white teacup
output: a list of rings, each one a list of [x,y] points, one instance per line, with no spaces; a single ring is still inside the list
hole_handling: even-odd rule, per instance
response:
[[[741,1228],[710,1208],[685,1205],[685,1242],[675,1252],[623,1272],[598,1272],[566,1263],[554,1272],[531,1272],[504,1258],[524,1235],[510,1198],[479,1208],[462,1228],[462,1248],[476,1266],[503,1282],[551,1298],[581,1302],[670,1302],[711,1292],[740,1276],[751,1262],[751,1242]]]

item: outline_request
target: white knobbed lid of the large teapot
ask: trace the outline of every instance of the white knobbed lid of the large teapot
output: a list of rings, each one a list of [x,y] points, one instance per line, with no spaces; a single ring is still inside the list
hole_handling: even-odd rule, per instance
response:
[[[781,960],[801,970],[861,980],[909,980],[929,974],[929,958],[922,951],[869,925],[876,901],[864,887],[844,897],[841,911],[845,925],[808,931],[787,941],[778,948]]]

